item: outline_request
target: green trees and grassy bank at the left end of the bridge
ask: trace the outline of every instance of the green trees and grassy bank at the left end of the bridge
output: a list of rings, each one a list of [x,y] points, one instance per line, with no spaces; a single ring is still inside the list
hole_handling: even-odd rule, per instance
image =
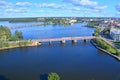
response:
[[[11,34],[9,28],[0,26],[0,49],[30,46],[29,40],[23,40],[22,32],[15,31],[15,35]]]

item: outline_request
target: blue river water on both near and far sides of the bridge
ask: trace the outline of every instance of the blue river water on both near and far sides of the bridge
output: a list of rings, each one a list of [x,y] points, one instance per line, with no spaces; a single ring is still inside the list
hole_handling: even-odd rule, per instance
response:
[[[31,39],[87,36],[94,31],[93,28],[82,27],[81,24],[19,30],[24,32],[24,38]],[[36,30],[41,33],[39,36],[36,35]],[[45,30],[50,35],[45,35]],[[51,45],[44,43],[38,47],[2,50],[0,64],[0,77],[10,80],[41,80],[41,75],[50,72],[58,73],[61,80],[120,80],[120,62],[97,50],[89,41],[78,41],[77,44],[68,41],[65,45],[52,42]]]

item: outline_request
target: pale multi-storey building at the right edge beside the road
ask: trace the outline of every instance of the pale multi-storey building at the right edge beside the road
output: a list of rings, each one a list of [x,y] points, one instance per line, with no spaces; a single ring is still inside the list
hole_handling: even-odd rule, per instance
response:
[[[120,29],[111,28],[110,36],[115,42],[120,42]]]

